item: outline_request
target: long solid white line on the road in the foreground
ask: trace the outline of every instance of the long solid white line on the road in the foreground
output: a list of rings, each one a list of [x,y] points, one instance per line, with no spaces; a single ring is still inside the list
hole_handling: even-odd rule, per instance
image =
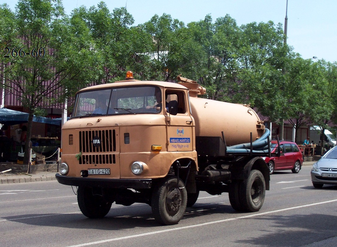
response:
[[[279,210],[274,210],[274,211],[269,211],[269,212],[264,212],[264,213],[257,213],[257,214],[251,214],[251,215],[246,215],[246,216],[240,216],[240,217],[231,218],[231,219],[217,220],[217,221],[211,221],[211,222],[206,222],[206,223],[201,223],[201,224],[196,224],[196,225],[182,226],[182,227],[176,227],[176,228],[165,229],[165,230],[160,230],[160,231],[151,231],[149,233],[129,235],[129,236],[120,237],[120,238],[106,239],[106,240],[101,240],[101,241],[88,242],[88,243],[84,243],[84,244],[71,245],[71,246],[67,246],[67,247],[82,247],[82,246],[89,246],[89,245],[94,245],[94,244],[103,244],[103,243],[108,243],[108,242],[113,242],[113,241],[118,241],[118,240],[124,240],[124,239],[139,238],[139,237],[144,237],[144,236],[149,236],[149,235],[154,235],[154,234],[167,233],[169,231],[178,231],[178,230],[182,230],[182,229],[194,228],[194,227],[199,227],[199,226],[204,226],[204,225],[218,224],[218,223],[222,223],[222,222],[226,222],[226,221],[252,218],[252,217],[255,217],[255,216],[261,216],[261,215],[266,215],[266,214],[274,214],[274,213],[278,213],[278,212],[283,212],[283,211],[288,211],[288,210],[293,210],[293,209],[298,209],[298,208],[305,208],[305,207],[310,207],[310,206],[315,206],[315,205],[320,205],[320,204],[325,204],[325,203],[333,203],[333,202],[337,202],[337,199],[329,200],[329,201],[325,201],[325,202],[320,202],[320,203],[307,204],[307,205],[302,205],[302,206],[297,206],[297,207],[292,207],[292,208],[279,209]]]

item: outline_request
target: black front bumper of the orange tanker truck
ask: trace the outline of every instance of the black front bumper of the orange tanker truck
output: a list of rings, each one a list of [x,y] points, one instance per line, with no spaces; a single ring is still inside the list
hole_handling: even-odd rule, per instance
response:
[[[107,178],[78,178],[67,177],[59,173],[56,180],[60,184],[71,186],[100,187],[100,188],[122,188],[122,189],[149,189],[152,179],[107,179]]]

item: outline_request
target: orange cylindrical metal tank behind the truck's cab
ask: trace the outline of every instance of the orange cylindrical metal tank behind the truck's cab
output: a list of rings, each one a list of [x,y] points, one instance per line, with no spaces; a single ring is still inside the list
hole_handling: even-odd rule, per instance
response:
[[[227,147],[250,143],[265,133],[264,121],[247,104],[198,98],[206,89],[195,81],[177,77],[179,84],[189,89],[192,116],[195,120],[195,136],[219,136],[222,131]]]

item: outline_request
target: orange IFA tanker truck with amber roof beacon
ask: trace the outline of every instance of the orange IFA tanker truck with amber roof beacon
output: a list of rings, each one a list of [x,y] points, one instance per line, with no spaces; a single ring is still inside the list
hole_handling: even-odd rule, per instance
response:
[[[228,192],[237,211],[262,207],[270,131],[248,105],[198,98],[205,88],[177,80],[138,81],[128,71],[124,81],[76,93],[56,178],[78,187],[85,216],[146,203],[157,221],[177,224],[199,191]]]

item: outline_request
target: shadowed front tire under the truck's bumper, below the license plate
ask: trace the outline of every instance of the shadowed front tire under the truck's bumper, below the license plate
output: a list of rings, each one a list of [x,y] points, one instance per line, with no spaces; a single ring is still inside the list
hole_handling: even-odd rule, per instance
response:
[[[103,218],[111,209],[111,202],[107,202],[100,195],[93,195],[92,188],[79,186],[77,202],[81,212],[88,218]]]

